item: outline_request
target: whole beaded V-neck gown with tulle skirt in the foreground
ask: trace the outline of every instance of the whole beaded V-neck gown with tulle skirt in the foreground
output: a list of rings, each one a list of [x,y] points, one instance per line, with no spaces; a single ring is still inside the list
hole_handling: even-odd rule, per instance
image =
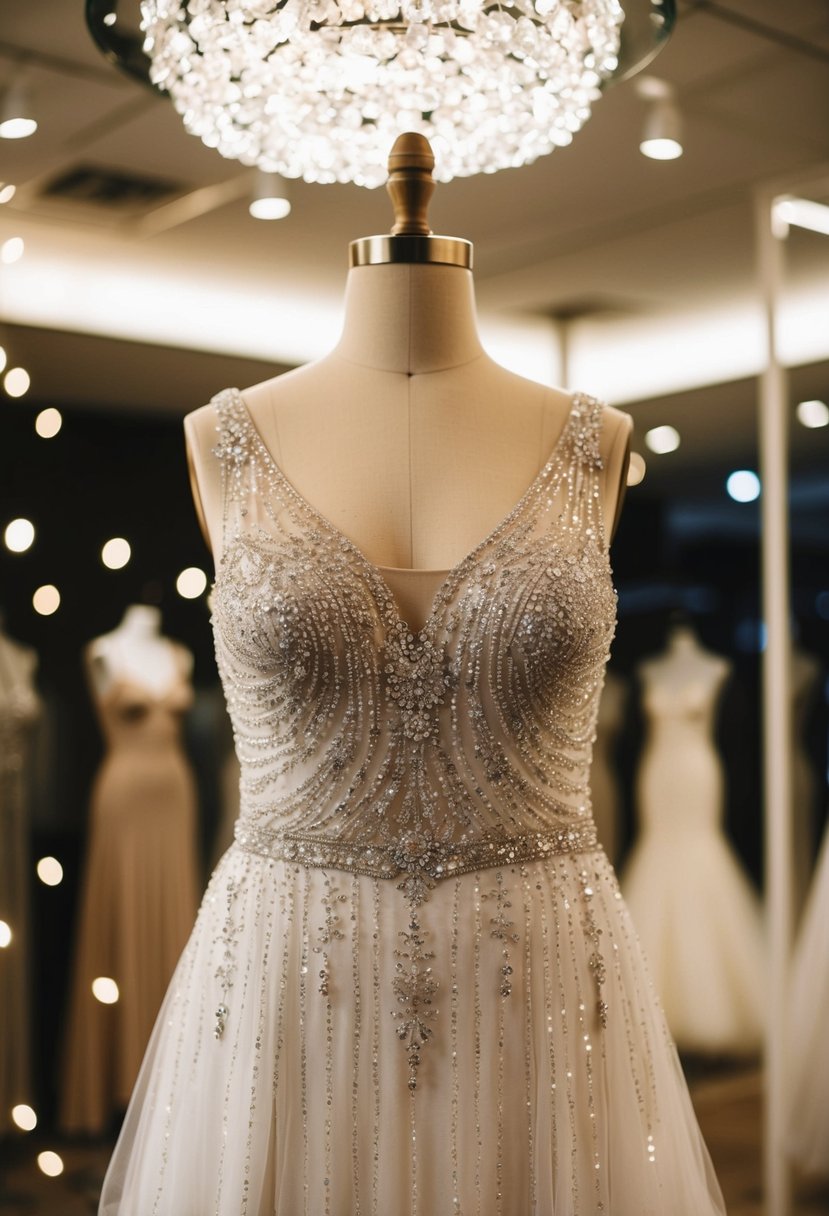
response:
[[[722,1214],[591,818],[602,406],[414,634],[241,394],[214,405],[241,814],[101,1212]]]

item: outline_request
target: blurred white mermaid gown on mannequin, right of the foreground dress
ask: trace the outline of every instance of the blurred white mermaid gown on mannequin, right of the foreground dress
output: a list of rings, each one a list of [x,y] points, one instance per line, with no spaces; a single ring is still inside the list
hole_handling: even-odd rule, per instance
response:
[[[751,1053],[763,1028],[760,900],[722,831],[714,717],[728,665],[686,629],[643,664],[639,834],[622,890],[679,1048]]]

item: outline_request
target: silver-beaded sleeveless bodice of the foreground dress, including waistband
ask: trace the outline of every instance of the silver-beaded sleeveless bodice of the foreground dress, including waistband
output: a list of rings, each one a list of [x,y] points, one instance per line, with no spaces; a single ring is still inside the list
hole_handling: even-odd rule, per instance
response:
[[[602,406],[585,395],[511,513],[412,632],[373,565],[214,399],[225,535],[213,593],[241,762],[237,839],[438,880],[594,843],[588,773],[614,623]]]

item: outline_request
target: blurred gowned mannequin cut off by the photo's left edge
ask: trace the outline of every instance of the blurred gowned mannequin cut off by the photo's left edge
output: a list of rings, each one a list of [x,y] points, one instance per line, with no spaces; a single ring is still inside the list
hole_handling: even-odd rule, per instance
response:
[[[27,761],[40,713],[34,651],[0,629],[0,921],[12,938],[0,950],[0,1132],[11,1110],[30,1103],[29,1079],[29,823]]]

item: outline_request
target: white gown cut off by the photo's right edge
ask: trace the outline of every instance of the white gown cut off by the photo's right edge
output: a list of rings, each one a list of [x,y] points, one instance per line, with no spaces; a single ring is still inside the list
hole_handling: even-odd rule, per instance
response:
[[[829,1177],[829,827],[797,934],[789,989],[791,1158]]]

